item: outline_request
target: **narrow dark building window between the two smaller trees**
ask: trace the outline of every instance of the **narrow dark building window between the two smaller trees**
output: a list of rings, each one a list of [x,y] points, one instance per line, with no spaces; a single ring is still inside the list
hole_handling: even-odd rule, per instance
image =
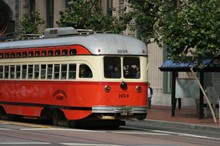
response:
[[[47,24],[49,27],[53,27],[53,19],[54,19],[54,0],[47,0],[46,2],[47,9]]]

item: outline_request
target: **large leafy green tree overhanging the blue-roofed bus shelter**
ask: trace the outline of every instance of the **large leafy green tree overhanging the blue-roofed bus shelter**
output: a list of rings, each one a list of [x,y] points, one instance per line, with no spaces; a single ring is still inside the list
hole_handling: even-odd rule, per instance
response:
[[[140,36],[148,40],[154,38],[158,44],[167,45],[166,50],[171,59],[197,60],[202,68],[202,60],[219,55],[219,0],[130,2],[139,14],[135,16]]]

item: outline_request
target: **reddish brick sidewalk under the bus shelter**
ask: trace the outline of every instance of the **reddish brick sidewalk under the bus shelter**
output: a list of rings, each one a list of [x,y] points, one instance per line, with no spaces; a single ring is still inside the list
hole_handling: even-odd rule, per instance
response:
[[[171,106],[152,106],[151,109],[148,109],[148,116],[145,119],[145,122],[159,126],[209,130],[217,129],[220,131],[219,119],[217,118],[216,120],[217,123],[214,123],[212,116],[199,119],[195,107],[182,107],[180,110],[177,108],[175,111],[175,117],[172,117]]]

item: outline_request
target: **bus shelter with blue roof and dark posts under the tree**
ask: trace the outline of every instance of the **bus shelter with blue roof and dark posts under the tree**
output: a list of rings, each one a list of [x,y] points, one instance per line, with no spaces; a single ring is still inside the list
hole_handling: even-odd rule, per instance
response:
[[[203,60],[204,67],[198,68],[197,61],[194,63],[186,63],[186,62],[174,62],[172,60],[166,60],[159,69],[162,72],[171,72],[172,73],[172,82],[171,82],[171,116],[175,116],[176,109],[176,78],[178,77],[179,72],[191,72],[190,68],[193,67],[195,72],[199,73],[199,80],[204,88],[204,73],[206,72],[220,72],[220,56],[215,57],[213,59]],[[199,119],[204,117],[204,98],[202,94],[202,90],[199,91]]]

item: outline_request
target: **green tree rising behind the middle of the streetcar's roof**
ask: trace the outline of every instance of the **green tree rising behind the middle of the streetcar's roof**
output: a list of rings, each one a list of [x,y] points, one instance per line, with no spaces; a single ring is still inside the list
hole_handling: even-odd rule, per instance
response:
[[[60,11],[60,20],[57,21],[60,27],[120,33],[131,20],[127,15],[123,18],[104,15],[98,0],[69,0],[68,7],[64,12]]]

